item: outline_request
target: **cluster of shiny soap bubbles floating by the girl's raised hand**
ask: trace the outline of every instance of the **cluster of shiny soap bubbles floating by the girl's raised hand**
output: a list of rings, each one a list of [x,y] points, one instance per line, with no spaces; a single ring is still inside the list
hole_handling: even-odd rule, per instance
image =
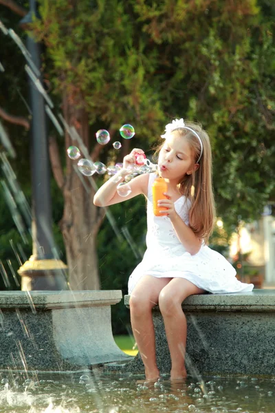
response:
[[[131,139],[135,135],[135,129],[133,126],[126,124],[120,128],[120,135],[124,139]],[[96,140],[100,145],[107,145],[110,141],[110,134],[106,129],[99,129],[96,132]],[[122,147],[121,143],[116,141],[113,142],[113,147],[115,149],[120,149]],[[122,169],[123,164],[118,162],[115,165],[110,165],[107,167],[102,162],[92,162],[86,158],[80,158],[81,153],[78,147],[70,146],[67,149],[67,154],[70,159],[78,160],[78,170],[85,176],[92,176],[94,173],[98,173],[98,175],[103,175],[105,172],[108,173],[109,176],[114,176],[120,169]],[[156,170],[156,165],[154,165],[150,160],[144,159],[144,156],[138,156],[136,159],[137,165],[132,165],[129,167],[129,175],[124,178],[124,182],[120,182],[117,187],[118,194],[122,197],[126,197],[131,193],[131,187],[129,182],[137,175],[142,173],[150,173]],[[120,178],[118,178],[118,182]]]

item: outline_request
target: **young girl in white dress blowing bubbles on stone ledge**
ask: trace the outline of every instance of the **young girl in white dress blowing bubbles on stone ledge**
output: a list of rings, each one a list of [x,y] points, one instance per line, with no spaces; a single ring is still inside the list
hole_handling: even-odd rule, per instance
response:
[[[129,278],[130,313],[133,335],[145,366],[148,381],[159,378],[155,357],[152,308],[158,304],[164,319],[172,368],[170,379],[186,377],[186,317],[181,304],[192,294],[251,291],[253,284],[239,282],[236,271],[206,242],[214,224],[212,155],[206,131],[197,123],[173,120],[166,125],[160,145],[158,175],[167,183],[159,201],[163,216],[153,214],[152,184],[156,173],[133,178],[131,193],[122,198],[116,187],[129,174],[135,156],[125,156],[123,168],[97,191],[98,207],[129,200],[141,193],[147,198],[146,252]]]

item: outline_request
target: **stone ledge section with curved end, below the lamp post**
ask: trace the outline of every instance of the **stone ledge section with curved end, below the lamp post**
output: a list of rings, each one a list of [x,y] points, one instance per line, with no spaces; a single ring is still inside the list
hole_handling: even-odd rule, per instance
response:
[[[74,371],[132,359],[115,344],[120,290],[0,293],[0,368]]]

